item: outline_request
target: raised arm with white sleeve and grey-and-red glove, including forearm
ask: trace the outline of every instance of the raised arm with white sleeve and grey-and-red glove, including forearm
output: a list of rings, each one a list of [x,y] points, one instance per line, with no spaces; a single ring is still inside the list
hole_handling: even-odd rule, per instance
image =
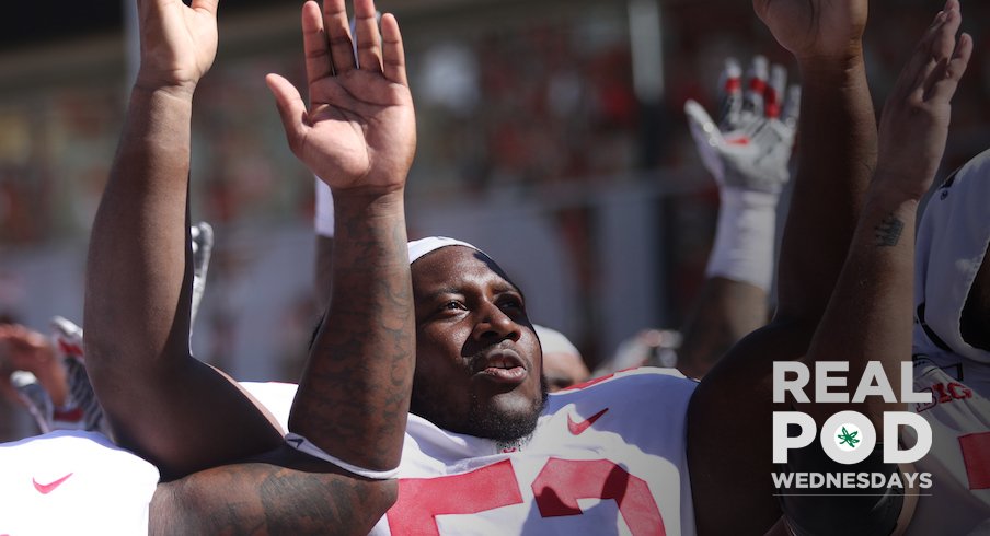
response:
[[[740,338],[769,319],[778,203],[791,178],[799,89],[786,69],[753,58],[748,75],[728,58],[720,79],[717,119],[684,104],[701,161],[721,205],[705,281],[681,331],[677,366],[702,377]],[[744,90],[745,88],[745,90]],[[785,95],[786,94],[786,98]]]

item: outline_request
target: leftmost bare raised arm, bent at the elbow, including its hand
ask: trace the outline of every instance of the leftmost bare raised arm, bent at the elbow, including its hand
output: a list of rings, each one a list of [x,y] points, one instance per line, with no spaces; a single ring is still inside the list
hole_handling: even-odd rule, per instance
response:
[[[281,440],[233,384],[189,356],[189,121],[216,51],[216,9],[207,0],[139,2],[141,67],[87,267],[94,391],[117,441],[164,478]]]

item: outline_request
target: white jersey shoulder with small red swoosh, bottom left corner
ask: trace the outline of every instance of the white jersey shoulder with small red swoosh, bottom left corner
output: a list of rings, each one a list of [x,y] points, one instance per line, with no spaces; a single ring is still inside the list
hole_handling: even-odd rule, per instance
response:
[[[0,535],[148,534],[158,469],[96,432],[0,444]]]

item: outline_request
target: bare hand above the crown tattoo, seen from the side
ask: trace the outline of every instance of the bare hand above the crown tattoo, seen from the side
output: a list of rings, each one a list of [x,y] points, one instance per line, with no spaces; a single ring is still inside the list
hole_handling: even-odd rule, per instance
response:
[[[877,180],[895,180],[920,199],[945,150],[952,97],[972,54],[972,38],[956,32],[959,1],[948,0],[918,43],[884,106],[879,125]]]

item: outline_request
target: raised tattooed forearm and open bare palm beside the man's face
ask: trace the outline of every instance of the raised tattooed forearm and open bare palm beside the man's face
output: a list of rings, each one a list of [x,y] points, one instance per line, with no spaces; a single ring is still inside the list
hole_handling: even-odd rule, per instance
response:
[[[358,63],[344,0],[303,8],[310,103],[270,75],[289,147],[333,193],[331,308],[310,352],[289,428],[372,470],[399,464],[414,366],[403,195],[415,119],[395,19],[381,34],[355,2]]]

